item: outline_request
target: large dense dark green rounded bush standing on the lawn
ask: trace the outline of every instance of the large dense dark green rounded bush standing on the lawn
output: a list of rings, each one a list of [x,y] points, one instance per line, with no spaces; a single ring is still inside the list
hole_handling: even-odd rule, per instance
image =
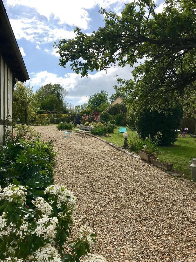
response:
[[[176,103],[173,109],[166,109],[165,112],[150,111],[143,109],[136,114],[136,128],[141,138],[153,137],[158,131],[162,133],[161,146],[169,146],[177,140],[180,123],[183,116],[183,108]]]

